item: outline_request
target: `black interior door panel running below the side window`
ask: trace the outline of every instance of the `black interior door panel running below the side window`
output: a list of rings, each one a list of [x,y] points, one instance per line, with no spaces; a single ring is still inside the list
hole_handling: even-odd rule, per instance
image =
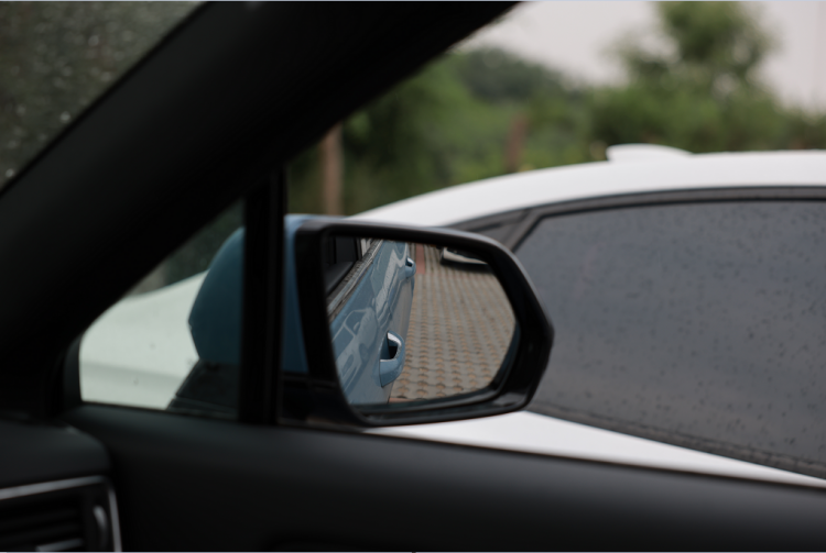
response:
[[[87,405],[127,550],[818,550],[826,494]]]

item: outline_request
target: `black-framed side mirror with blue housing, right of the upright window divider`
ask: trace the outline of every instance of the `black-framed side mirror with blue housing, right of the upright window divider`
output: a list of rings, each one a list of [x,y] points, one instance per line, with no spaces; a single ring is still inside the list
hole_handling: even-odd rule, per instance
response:
[[[553,331],[497,242],[327,218],[285,230],[283,419],[380,427],[528,405]]]

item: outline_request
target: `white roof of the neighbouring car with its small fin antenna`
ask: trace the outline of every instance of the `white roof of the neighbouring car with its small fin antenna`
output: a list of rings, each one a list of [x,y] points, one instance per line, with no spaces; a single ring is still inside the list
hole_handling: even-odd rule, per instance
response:
[[[633,152],[628,146],[623,150],[615,151],[609,162],[539,169],[453,186],[365,211],[354,218],[445,226],[517,209],[620,193],[746,186],[826,186],[824,151],[689,155],[674,155],[682,152],[674,151],[672,155],[646,156],[640,145],[634,145]]]

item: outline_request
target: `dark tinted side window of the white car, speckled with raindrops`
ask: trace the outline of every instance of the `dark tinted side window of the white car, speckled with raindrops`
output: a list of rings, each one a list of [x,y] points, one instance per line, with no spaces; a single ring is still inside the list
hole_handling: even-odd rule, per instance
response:
[[[517,255],[556,329],[532,410],[826,476],[826,204],[541,220]]]

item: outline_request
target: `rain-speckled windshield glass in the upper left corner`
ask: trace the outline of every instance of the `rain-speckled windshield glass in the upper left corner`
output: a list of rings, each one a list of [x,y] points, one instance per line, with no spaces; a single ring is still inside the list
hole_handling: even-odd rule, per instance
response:
[[[0,188],[198,2],[0,2]]]

